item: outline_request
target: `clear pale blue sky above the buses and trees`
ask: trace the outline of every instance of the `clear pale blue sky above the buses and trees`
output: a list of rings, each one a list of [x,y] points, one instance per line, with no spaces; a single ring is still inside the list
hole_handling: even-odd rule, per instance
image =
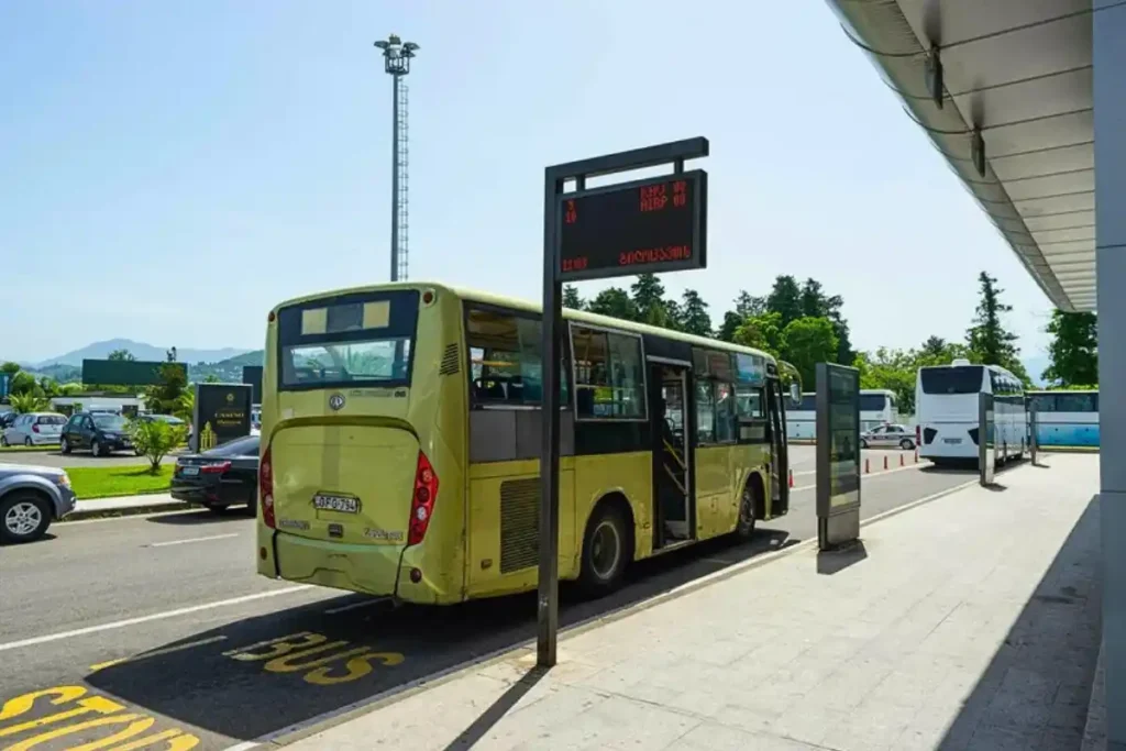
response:
[[[1042,354],[1046,298],[822,2],[87,0],[0,6],[0,357],[260,347],[275,303],[386,279],[391,32],[411,278],[535,297],[546,164],[706,135],[711,266],[670,292],[718,321],[813,276],[909,347],[986,269]]]

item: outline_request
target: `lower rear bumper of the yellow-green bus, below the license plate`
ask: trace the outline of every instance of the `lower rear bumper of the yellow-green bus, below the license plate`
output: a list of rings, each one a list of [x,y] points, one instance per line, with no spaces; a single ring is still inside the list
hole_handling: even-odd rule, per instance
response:
[[[272,561],[260,561],[259,573],[286,581],[330,587],[376,597],[394,597],[420,605],[450,600],[422,579],[411,581],[399,545],[348,545],[275,533]]]

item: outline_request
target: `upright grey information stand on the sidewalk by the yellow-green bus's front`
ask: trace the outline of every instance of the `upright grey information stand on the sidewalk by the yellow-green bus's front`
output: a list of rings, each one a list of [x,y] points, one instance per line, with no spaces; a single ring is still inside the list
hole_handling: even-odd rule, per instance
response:
[[[860,372],[817,363],[817,547],[860,537]]]

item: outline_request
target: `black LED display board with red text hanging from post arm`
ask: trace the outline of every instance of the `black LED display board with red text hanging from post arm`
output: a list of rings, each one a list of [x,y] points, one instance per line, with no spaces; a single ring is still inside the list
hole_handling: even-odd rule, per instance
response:
[[[560,196],[560,281],[707,266],[707,172]]]

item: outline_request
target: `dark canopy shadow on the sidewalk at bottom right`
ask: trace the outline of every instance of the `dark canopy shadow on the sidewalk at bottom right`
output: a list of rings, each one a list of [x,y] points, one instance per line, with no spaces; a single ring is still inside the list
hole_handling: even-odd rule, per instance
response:
[[[940,751],[1079,749],[1101,641],[1099,501],[1091,499]]]

